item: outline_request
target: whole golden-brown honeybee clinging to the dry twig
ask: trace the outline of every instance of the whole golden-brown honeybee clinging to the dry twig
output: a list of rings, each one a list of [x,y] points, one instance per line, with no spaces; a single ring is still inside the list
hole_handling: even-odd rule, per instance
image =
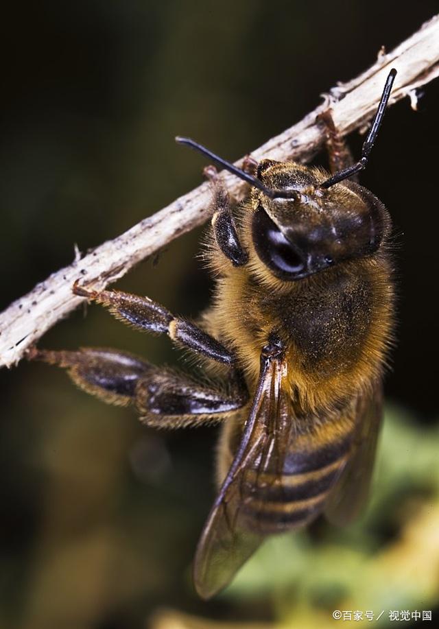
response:
[[[350,178],[366,166],[395,75],[357,163],[348,164],[326,116],[332,174],[268,159],[241,170],[177,139],[251,187],[232,207],[212,175],[207,257],[216,285],[199,324],[147,297],[75,283],[76,295],[219,366],[225,386],[112,349],[32,350],[102,400],[134,403],[149,426],[222,423],[219,491],[194,562],[204,598],[233,579],[265,536],[322,513],[346,524],[368,495],[392,339],[391,224],[375,195]]]

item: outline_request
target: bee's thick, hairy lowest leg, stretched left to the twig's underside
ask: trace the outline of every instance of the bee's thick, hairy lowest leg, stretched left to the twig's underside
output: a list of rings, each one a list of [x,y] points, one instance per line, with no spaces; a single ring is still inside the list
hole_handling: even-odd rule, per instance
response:
[[[219,421],[248,401],[244,378],[233,370],[228,390],[198,383],[176,370],[158,368],[127,352],[107,348],[47,351],[32,348],[29,359],[67,369],[82,390],[109,404],[134,403],[142,420],[155,427]]]

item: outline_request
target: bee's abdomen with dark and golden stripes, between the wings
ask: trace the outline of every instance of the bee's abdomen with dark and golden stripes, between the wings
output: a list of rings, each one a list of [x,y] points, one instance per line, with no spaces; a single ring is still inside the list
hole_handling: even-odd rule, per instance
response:
[[[353,422],[331,420],[292,439],[281,471],[248,470],[242,496],[248,528],[270,534],[315,519],[348,459],[352,439]]]

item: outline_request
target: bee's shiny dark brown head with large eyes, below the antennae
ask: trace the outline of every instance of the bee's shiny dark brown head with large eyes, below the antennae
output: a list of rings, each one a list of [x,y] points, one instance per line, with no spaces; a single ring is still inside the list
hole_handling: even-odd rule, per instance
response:
[[[390,219],[383,204],[352,182],[331,189],[320,169],[263,161],[258,177],[294,198],[253,195],[252,242],[259,259],[277,278],[296,281],[337,263],[375,253]]]

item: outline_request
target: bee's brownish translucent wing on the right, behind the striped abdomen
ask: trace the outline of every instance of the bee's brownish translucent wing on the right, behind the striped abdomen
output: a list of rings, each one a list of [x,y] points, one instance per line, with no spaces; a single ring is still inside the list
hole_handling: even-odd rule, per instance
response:
[[[351,454],[329,495],[324,514],[327,519],[343,526],[351,523],[366,504],[377,451],[382,417],[381,383],[372,394],[359,400],[357,430]]]

